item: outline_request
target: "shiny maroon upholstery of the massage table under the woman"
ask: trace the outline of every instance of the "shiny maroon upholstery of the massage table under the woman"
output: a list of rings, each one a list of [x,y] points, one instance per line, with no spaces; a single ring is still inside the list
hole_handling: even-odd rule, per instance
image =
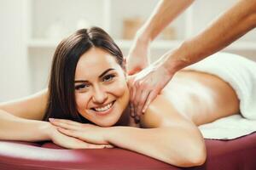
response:
[[[256,169],[256,133],[230,141],[206,140],[207,162],[186,169]],[[0,141],[1,170],[84,169],[84,170],[178,170],[130,150],[66,150],[52,143]]]

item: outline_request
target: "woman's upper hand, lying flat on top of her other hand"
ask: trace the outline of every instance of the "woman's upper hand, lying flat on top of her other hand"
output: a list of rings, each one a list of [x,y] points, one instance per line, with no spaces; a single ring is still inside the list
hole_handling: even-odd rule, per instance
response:
[[[85,143],[98,144],[99,147],[113,148],[105,139],[107,127],[99,127],[89,123],[74,122],[66,119],[49,119],[57,130],[63,135],[84,141]]]

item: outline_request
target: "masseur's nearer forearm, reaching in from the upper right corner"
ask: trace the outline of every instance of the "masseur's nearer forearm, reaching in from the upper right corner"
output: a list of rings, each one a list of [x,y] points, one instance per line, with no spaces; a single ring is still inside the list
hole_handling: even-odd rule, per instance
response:
[[[164,66],[171,73],[176,72],[227,47],[255,26],[256,0],[241,0],[198,36],[165,54]]]

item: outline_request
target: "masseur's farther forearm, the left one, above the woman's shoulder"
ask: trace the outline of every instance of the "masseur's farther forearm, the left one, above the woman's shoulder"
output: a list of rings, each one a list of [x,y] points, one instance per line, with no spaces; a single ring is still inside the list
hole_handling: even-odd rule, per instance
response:
[[[160,32],[188,8],[194,0],[162,0],[154,8],[154,12],[138,31],[138,37],[146,41],[153,41]]]

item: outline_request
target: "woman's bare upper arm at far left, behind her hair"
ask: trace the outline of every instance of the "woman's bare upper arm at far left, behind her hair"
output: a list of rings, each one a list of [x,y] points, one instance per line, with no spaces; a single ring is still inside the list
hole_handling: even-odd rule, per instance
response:
[[[0,104],[0,110],[27,119],[42,120],[48,100],[48,89],[25,98],[15,99]]]

